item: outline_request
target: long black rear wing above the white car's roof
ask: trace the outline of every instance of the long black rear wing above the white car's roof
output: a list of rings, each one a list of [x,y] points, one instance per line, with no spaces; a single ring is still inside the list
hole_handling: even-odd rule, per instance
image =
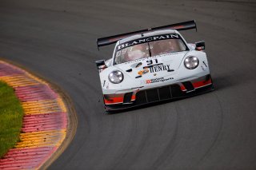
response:
[[[197,25],[196,25],[195,21],[193,20],[193,21],[189,21],[189,22],[180,22],[180,23],[176,23],[176,24],[171,24],[168,26],[158,26],[155,28],[147,29],[147,30],[138,30],[138,31],[134,31],[134,32],[126,33],[126,34],[113,35],[113,36],[106,37],[106,38],[98,38],[97,46],[100,47],[100,46],[104,46],[104,45],[114,44],[115,42],[118,42],[118,40],[121,40],[123,38],[128,38],[135,34],[144,34],[144,33],[149,33],[150,31],[153,31],[153,30],[167,30],[167,29],[171,29],[171,30],[196,29],[197,30]]]

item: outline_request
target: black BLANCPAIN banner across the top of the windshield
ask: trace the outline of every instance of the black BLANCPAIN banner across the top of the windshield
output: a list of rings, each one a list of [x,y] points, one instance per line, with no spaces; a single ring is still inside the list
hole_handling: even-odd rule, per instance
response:
[[[148,37],[148,38],[139,38],[139,39],[136,39],[130,42],[125,42],[123,44],[118,45],[117,50],[126,48],[128,46],[132,46],[132,45],[142,44],[145,42],[154,42],[154,41],[164,40],[164,39],[179,39],[179,38],[180,37],[178,34],[162,34],[162,35]]]

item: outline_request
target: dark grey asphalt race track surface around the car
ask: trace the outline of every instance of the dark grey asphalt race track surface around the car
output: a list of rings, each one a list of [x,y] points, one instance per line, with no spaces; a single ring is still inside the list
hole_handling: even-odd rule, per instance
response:
[[[0,0],[0,57],[53,81],[74,101],[78,129],[50,169],[256,169],[253,1]],[[215,91],[105,115],[95,39],[195,19]]]

